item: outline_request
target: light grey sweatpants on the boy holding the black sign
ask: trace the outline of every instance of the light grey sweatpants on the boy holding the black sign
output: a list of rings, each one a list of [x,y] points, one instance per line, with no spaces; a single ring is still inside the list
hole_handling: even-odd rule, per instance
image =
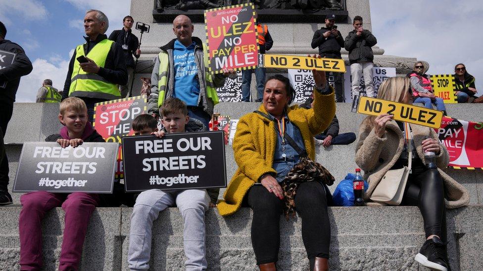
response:
[[[166,191],[152,189],[136,199],[131,215],[128,264],[131,270],[149,269],[151,255],[152,223],[159,212],[170,206],[178,206],[183,217],[183,244],[186,270],[206,270],[204,214],[210,198],[206,190]]]

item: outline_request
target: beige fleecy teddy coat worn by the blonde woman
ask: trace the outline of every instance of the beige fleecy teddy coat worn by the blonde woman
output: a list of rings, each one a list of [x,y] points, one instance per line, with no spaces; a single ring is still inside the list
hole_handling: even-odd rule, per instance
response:
[[[427,135],[439,142],[435,130],[416,124],[409,124],[409,126],[412,130],[416,152],[421,160],[425,162],[421,142]],[[355,161],[364,170],[364,179],[369,183],[369,188],[364,194],[364,199],[369,200],[376,186],[401,155],[405,138],[394,120],[386,123],[386,133],[382,138],[376,135],[373,127],[367,126],[363,122],[359,127],[358,138]],[[439,174],[441,174],[444,180],[446,207],[458,208],[466,206],[470,202],[468,191],[441,170],[441,168],[445,168],[448,165],[449,155],[446,147],[441,143],[439,143],[439,148],[439,155],[436,155],[436,165]]]

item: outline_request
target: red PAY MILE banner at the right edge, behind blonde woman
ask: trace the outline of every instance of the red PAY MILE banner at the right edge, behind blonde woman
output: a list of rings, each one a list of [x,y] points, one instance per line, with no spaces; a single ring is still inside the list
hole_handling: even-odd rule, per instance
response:
[[[483,168],[483,122],[444,116],[435,131],[448,150],[450,166]]]

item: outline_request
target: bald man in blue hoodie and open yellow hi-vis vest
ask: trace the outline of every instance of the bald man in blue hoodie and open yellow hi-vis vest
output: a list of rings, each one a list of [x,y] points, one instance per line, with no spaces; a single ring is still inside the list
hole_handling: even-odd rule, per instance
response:
[[[193,24],[186,15],[179,15],[173,21],[176,39],[161,46],[161,52],[154,62],[151,75],[151,94],[148,113],[159,117],[159,107],[169,97],[176,97],[186,103],[188,116],[208,123],[213,107],[219,102],[216,88],[225,84],[233,70],[224,69],[223,74],[208,72],[208,52],[201,39],[192,37]]]

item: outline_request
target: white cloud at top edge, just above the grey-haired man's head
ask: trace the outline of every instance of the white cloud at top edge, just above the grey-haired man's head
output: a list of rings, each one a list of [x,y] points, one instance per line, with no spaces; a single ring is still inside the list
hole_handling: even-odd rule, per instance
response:
[[[77,9],[87,11],[89,9],[97,9],[104,12],[109,19],[109,29],[107,33],[115,29],[122,28],[122,19],[130,13],[130,0],[65,0],[75,6]],[[70,22],[69,22],[70,25]],[[82,28],[84,31],[84,28]]]

